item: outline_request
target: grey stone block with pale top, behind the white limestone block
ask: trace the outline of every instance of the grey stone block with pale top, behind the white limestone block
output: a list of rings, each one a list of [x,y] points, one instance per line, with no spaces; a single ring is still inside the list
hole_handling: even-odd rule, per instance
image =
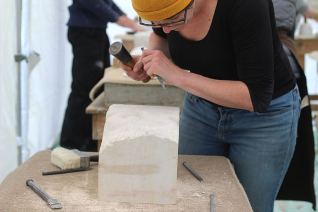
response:
[[[104,73],[104,104],[160,105],[182,108],[185,91],[166,84],[164,89],[157,78],[143,83],[124,74],[121,68],[110,67]]]

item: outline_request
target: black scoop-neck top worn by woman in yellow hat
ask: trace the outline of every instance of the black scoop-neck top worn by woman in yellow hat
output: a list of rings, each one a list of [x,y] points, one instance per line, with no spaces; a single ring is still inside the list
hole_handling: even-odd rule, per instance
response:
[[[165,34],[172,60],[180,68],[208,78],[239,80],[250,93],[255,112],[295,87],[296,79],[283,50],[272,0],[220,0],[208,34],[199,41],[177,31]]]

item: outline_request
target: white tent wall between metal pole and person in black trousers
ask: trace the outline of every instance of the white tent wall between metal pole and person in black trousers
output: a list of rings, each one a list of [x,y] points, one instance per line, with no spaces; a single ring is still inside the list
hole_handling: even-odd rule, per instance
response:
[[[59,139],[70,92],[72,50],[67,40],[72,1],[30,0],[29,46],[40,61],[29,75],[29,156]]]

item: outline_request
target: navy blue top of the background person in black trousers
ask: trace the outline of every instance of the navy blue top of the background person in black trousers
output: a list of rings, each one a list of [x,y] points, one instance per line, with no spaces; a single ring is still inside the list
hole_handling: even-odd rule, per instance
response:
[[[112,0],[73,0],[68,26],[106,28],[124,13]]]

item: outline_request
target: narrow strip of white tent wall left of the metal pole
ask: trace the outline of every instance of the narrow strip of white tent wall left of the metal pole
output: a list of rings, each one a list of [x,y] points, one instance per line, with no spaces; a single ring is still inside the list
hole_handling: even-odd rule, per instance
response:
[[[0,182],[18,166],[16,1],[0,1]]]

